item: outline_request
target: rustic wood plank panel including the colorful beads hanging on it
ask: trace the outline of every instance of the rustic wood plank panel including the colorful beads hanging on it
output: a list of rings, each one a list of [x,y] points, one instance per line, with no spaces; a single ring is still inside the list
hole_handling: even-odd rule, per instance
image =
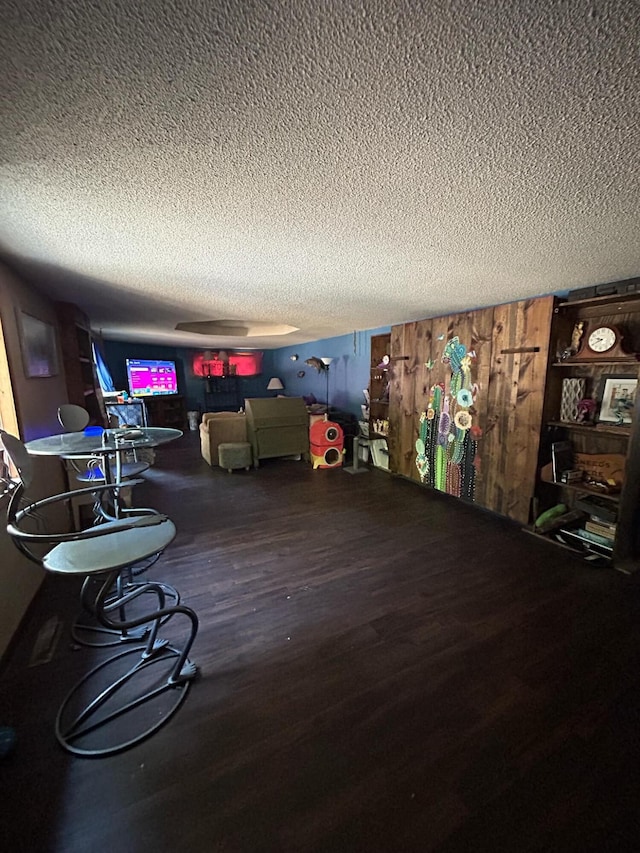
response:
[[[553,297],[394,326],[390,467],[527,523]]]

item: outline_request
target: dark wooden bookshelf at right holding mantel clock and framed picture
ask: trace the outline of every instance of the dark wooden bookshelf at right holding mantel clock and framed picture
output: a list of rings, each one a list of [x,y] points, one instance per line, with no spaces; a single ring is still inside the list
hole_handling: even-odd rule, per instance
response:
[[[589,337],[601,328],[614,328],[622,333],[622,346],[616,340],[607,351],[597,352],[588,347]],[[598,342],[594,342],[598,348]],[[542,514],[564,504],[570,515],[549,519],[541,528],[542,535],[589,560],[635,571],[640,556],[637,544],[640,401],[635,393],[639,368],[635,353],[640,353],[640,296],[611,295],[559,303],[551,353],[538,509]],[[573,388],[564,380],[572,380]],[[576,394],[573,398],[569,396],[576,389],[577,396],[587,401],[579,407],[575,405]],[[634,401],[631,408],[630,400]],[[558,482],[561,472],[554,473],[552,450],[560,442],[569,444],[573,454],[571,467],[580,472],[575,476],[581,479]],[[594,538],[595,531],[605,532],[607,528],[606,535],[596,532],[599,538]]]

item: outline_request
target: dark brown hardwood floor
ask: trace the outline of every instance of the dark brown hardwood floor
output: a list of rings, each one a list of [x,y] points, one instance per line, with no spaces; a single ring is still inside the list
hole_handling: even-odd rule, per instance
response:
[[[640,847],[638,580],[380,471],[228,474],[188,434],[146,477],[201,678],[143,744],[65,754],[57,707],[104,653],[72,647],[77,586],[48,577],[0,680],[3,849]]]

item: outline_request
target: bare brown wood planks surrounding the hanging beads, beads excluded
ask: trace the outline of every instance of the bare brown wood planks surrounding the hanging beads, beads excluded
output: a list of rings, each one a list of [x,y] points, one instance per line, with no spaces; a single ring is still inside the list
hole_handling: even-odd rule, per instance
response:
[[[420,482],[415,449],[420,416],[432,386],[448,386],[451,369],[442,354],[447,341],[457,336],[475,353],[472,380],[477,389],[471,411],[482,433],[475,502],[516,521],[529,521],[553,307],[549,296],[392,327],[392,472]]]

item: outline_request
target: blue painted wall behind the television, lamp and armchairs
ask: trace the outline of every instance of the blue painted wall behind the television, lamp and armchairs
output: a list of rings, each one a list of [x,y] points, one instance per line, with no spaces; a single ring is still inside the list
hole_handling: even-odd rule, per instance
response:
[[[267,384],[273,376],[282,380],[284,391],[289,397],[313,395],[319,403],[327,398],[327,376],[308,364],[310,356],[331,357],[329,367],[329,403],[333,408],[351,412],[357,418],[362,417],[360,406],[364,403],[363,388],[369,387],[371,336],[390,332],[389,326],[379,329],[340,335],[336,338],[324,338],[313,343],[281,347],[277,350],[265,350],[262,362],[262,374],[257,377],[238,377],[239,405],[245,397],[268,397]],[[236,408],[236,397],[227,394],[205,395],[205,382],[192,371],[193,356],[202,349],[170,347],[157,344],[126,343],[124,341],[104,341],[102,351],[116,388],[127,389],[127,358],[170,359],[176,362],[178,388],[185,397],[187,409],[209,411],[214,409]],[[296,361],[291,360],[297,355]],[[297,376],[304,371],[304,377]]]

